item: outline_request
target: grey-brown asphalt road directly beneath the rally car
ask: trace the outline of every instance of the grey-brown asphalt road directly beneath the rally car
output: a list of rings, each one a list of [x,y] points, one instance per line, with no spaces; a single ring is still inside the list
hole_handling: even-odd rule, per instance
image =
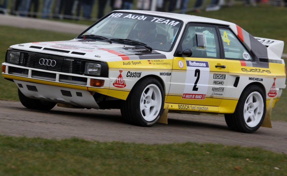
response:
[[[168,124],[145,128],[126,124],[118,109],[69,109],[50,111],[25,108],[17,101],[0,101],[0,134],[63,139],[79,137],[96,141],[148,144],[174,142],[220,143],[258,146],[287,153],[287,123],[272,122],[253,134],[230,131],[222,116],[168,114]]]

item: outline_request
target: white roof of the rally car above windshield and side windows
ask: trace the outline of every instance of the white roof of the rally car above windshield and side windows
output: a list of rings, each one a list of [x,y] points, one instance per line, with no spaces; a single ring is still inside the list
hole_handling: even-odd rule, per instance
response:
[[[178,19],[183,21],[184,23],[188,22],[205,22],[205,23],[215,23],[215,24],[223,24],[223,25],[232,25],[228,21],[222,21],[218,19],[206,18],[206,17],[199,17],[195,15],[186,15],[180,13],[167,13],[167,12],[158,12],[158,11],[145,11],[145,10],[116,10],[118,12],[127,12],[127,13],[142,13],[146,15],[155,15],[155,16],[163,16],[173,19]]]

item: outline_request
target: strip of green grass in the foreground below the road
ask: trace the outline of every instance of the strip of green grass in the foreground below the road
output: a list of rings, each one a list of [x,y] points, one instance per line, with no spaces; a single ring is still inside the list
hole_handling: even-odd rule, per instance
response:
[[[0,136],[0,175],[286,175],[287,155],[221,144]],[[278,169],[274,169],[278,168]]]

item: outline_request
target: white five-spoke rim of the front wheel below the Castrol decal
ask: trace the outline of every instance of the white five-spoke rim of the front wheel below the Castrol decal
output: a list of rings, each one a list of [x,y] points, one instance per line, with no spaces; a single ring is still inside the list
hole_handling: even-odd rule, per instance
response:
[[[140,111],[144,120],[150,122],[158,117],[162,106],[162,95],[155,84],[148,85],[141,94]]]

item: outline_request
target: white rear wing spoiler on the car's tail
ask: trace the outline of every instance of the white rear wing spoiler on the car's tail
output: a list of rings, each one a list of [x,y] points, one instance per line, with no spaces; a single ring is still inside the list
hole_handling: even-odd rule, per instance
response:
[[[281,40],[274,40],[269,38],[255,37],[260,43],[267,47],[268,57],[273,55],[273,57],[282,57],[284,42]],[[274,56],[274,54],[276,56]]]

